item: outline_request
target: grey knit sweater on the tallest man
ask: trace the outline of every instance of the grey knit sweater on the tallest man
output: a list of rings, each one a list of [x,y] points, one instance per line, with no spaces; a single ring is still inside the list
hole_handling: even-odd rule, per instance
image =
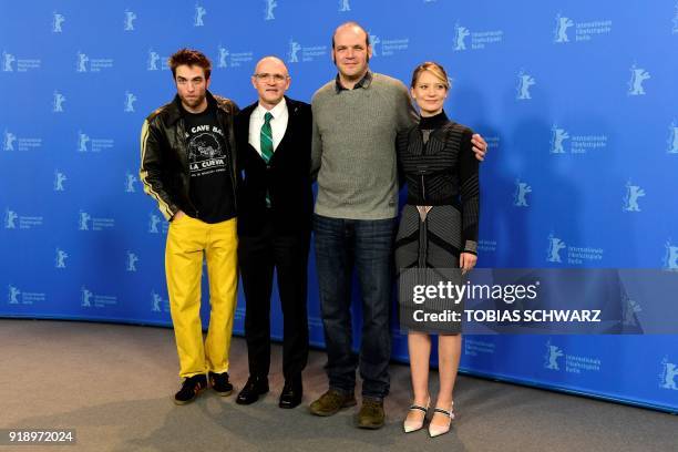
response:
[[[378,73],[355,90],[337,92],[331,81],[316,91],[311,106],[316,214],[393,218],[398,214],[396,135],[418,117],[408,89]]]

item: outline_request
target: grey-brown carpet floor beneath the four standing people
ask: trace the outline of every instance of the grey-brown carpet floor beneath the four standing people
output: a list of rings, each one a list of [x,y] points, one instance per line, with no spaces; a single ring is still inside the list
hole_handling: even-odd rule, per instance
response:
[[[281,410],[279,346],[271,392],[261,401],[242,407],[234,396],[208,391],[175,407],[171,329],[1,319],[0,345],[0,429],[75,429],[78,435],[75,445],[17,451],[678,451],[675,415],[463,376],[452,431],[435,439],[404,434],[410,390],[402,364],[391,366],[387,425],[358,430],[353,409],[331,418],[307,411],[327,389],[320,350],[305,371],[304,404]],[[247,379],[240,338],[233,341],[230,374],[236,389]],[[434,387],[436,373],[431,377]]]

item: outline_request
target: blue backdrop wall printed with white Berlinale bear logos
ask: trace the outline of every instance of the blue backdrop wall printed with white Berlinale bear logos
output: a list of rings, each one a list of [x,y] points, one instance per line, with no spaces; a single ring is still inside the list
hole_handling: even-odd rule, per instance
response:
[[[212,91],[245,106],[255,62],[276,54],[308,102],[336,74],[330,37],[348,20],[368,29],[374,71],[408,84],[442,63],[448,114],[489,142],[480,267],[678,271],[677,0],[0,8],[1,316],[171,325],[167,224],[138,181],[143,119],[175,93],[167,56],[201,49]],[[321,346],[312,254],[309,281]],[[243,314],[240,297],[236,332]],[[396,321],[393,357],[408,357]],[[462,370],[678,410],[677,336],[468,336]]]

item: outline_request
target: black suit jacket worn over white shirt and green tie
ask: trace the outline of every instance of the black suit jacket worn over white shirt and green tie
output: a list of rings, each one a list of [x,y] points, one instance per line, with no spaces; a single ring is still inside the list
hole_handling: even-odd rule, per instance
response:
[[[258,235],[266,222],[284,235],[310,232],[314,195],[310,178],[311,107],[285,97],[287,130],[268,165],[249,144],[254,103],[238,113],[235,137],[238,152],[238,234]],[[266,206],[269,193],[270,207]]]

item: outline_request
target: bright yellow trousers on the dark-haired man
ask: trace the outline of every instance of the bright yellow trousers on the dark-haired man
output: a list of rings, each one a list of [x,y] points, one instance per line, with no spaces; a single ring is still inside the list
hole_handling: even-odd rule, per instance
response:
[[[228,370],[237,302],[236,219],[208,224],[187,215],[170,223],[165,274],[179,358],[179,377]],[[209,328],[203,342],[201,277],[203,253],[209,278]]]

